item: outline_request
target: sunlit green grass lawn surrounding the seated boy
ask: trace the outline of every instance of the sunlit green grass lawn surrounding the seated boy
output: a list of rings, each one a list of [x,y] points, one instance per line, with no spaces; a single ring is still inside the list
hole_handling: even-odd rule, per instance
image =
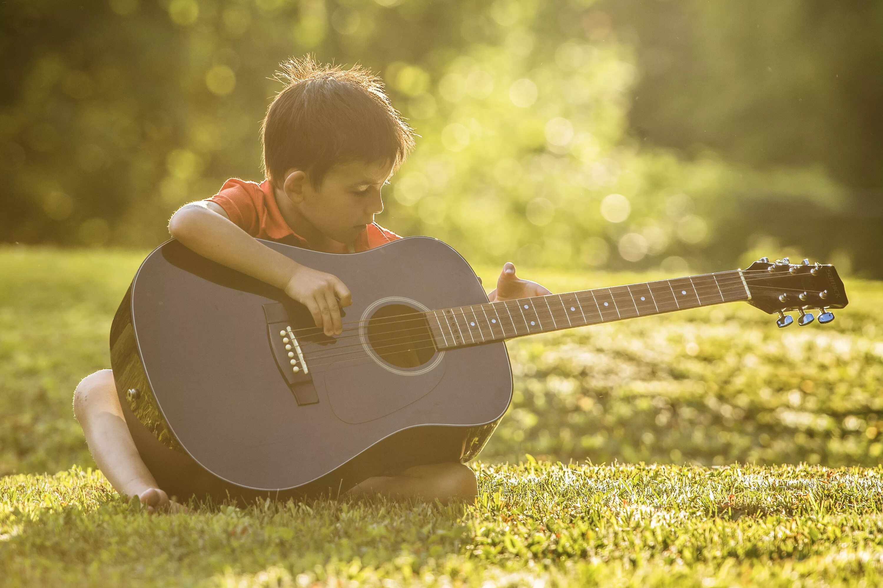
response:
[[[142,257],[0,249],[0,585],[880,581],[879,283],[849,280],[826,326],[738,304],[510,342],[515,398],[474,505],[150,517],[94,472],[71,408]],[[555,292],[650,279],[519,274]]]

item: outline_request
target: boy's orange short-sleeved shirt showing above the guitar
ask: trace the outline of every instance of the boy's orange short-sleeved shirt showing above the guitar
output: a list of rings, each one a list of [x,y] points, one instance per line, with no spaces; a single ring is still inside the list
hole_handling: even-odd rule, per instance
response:
[[[221,190],[215,196],[206,199],[221,206],[233,224],[253,237],[313,249],[283,219],[269,180],[259,184],[230,178],[223,182]],[[372,223],[356,237],[355,242],[348,245],[351,253],[358,253],[401,238],[377,223]]]

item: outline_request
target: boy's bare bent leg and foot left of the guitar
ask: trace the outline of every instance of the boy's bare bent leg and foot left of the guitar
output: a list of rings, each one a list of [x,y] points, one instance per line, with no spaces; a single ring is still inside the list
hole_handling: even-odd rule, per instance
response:
[[[111,370],[83,378],[73,392],[73,413],[95,463],[120,495],[139,496],[150,512],[170,507],[169,496],[157,487],[132,441]]]

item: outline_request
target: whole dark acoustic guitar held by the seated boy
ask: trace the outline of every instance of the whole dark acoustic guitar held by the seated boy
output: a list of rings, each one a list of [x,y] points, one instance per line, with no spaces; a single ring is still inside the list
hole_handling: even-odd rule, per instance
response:
[[[110,332],[120,403],[170,495],[338,495],[367,477],[478,455],[509,406],[503,341],[723,302],[786,327],[847,304],[831,265],[745,270],[488,302],[444,242],[356,254],[263,243],[350,288],[324,335],[282,290],[171,240],[141,264]],[[785,314],[796,311],[798,317]]]

